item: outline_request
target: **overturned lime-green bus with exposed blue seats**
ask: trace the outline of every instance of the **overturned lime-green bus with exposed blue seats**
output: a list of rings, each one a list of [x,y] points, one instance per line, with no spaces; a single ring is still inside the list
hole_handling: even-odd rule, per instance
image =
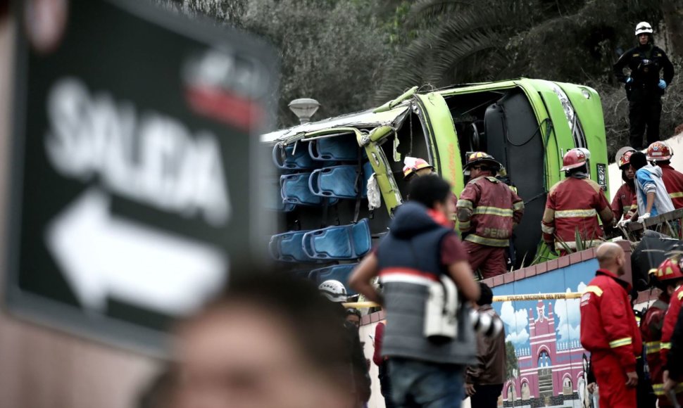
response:
[[[541,217],[546,193],[564,176],[563,154],[591,152],[590,177],[608,193],[600,97],[594,89],[542,79],[465,84],[420,92],[384,105],[261,136],[279,170],[268,207],[282,213],[270,254],[318,279],[344,276],[387,231],[405,198],[403,158],[430,162],[463,189],[465,152],[486,151],[506,167],[525,201],[515,229],[515,267],[546,260]],[[370,210],[368,178],[382,208]]]

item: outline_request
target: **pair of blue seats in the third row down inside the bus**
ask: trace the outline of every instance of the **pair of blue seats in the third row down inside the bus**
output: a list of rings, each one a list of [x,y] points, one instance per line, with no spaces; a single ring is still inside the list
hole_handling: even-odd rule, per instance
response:
[[[356,224],[274,235],[268,250],[282,262],[330,262],[360,259],[371,246],[370,224],[363,218]]]

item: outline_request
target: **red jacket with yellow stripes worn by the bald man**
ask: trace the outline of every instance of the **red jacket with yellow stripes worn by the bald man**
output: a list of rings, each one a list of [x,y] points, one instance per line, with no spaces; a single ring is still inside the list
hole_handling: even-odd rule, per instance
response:
[[[631,287],[599,269],[581,297],[581,344],[589,352],[615,355],[624,372],[636,371],[643,343],[628,300]]]

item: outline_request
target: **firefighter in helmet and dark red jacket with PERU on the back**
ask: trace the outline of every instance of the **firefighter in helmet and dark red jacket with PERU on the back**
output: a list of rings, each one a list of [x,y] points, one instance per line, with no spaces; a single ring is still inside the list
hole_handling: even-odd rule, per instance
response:
[[[470,265],[480,269],[484,279],[506,272],[506,248],[513,228],[524,215],[520,196],[495,177],[501,167],[487,153],[468,153],[464,170],[470,181],[457,204],[459,228]]]

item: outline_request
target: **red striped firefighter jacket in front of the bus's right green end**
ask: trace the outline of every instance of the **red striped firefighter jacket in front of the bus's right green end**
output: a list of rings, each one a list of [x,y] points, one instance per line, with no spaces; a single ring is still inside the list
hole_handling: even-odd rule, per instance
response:
[[[614,217],[599,184],[591,179],[568,177],[555,184],[548,193],[541,222],[543,240],[553,243],[558,238],[555,246],[562,250],[564,247],[560,241],[575,243],[576,231],[579,231],[585,246],[591,246],[589,241],[598,241],[603,236],[596,215],[605,224],[610,224]]]

